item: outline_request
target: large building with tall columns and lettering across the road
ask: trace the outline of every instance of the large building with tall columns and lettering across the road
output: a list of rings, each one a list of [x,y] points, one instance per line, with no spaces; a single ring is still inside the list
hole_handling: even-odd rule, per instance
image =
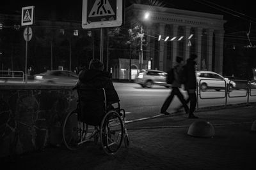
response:
[[[146,12],[150,13],[147,20],[144,18]],[[143,48],[143,61],[146,61],[143,64],[152,60],[152,69],[167,71],[175,64],[177,55],[186,61],[195,53],[198,70],[222,74],[226,22],[222,15],[132,4],[126,8],[125,17],[132,27],[143,27],[147,41]]]

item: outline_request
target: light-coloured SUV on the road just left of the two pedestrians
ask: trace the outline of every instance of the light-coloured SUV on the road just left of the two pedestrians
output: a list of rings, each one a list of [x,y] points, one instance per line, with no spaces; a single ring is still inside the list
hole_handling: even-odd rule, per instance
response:
[[[163,85],[169,88],[170,85],[166,83],[167,73],[164,71],[146,69],[142,70],[135,78],[135,83],[141,85],[141,87],[151,88],[152,85]]]

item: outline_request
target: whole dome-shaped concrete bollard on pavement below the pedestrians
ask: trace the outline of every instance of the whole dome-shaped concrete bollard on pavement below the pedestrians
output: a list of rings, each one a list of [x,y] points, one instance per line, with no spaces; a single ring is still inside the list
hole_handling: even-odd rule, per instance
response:
[[[188,135],[195,137],[213,137],[215,134],[214,127],[210,122],[197,120],[189,126]]]

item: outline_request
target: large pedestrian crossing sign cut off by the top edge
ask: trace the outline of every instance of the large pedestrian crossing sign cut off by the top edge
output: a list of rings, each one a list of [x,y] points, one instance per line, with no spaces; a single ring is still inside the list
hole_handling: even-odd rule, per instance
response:
[[[83,0],[83,29],[119,27],[123,20],[123,0]]]

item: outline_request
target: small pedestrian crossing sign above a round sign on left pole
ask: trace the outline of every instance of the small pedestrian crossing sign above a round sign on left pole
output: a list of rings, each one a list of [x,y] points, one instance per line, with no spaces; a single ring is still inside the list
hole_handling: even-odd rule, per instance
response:
[[[22,8],[21,25],[33,25],[35,6],[26,6]]]

